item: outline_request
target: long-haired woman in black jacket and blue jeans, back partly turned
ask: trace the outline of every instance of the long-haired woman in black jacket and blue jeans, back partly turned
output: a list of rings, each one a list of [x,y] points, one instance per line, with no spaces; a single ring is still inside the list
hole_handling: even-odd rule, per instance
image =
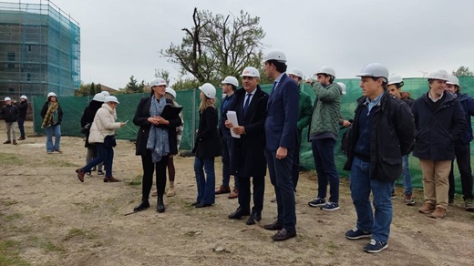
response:
[[[198,196],[191,205],[196,208],[209,207],[214,204],[216,182],[214,158],[221,156],[221,140],[217,131],[216,88],[210,83],[201,87],[200,121],[193,152],[194,172],[198,186]],[[204,177],[204,171],[206,177]]]

